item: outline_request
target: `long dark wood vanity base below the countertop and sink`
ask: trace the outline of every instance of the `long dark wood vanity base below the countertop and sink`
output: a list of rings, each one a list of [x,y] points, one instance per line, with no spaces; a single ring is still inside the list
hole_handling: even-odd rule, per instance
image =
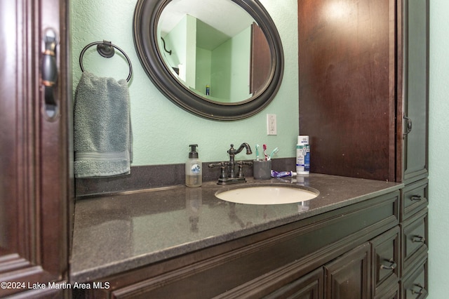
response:
[[[398,290],[400,192],[100,279],[82,298],[382,298]],[[382,269],[384,267],[384,269]],[[354,297],[355,296],[355,297]],[[393,297],[392,297],[393,298]]]

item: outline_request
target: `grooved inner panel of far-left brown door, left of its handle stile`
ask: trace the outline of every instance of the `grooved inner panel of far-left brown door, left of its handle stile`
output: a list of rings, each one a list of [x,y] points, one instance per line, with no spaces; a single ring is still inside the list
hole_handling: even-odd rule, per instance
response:
[[[1,240],[1,254],[15,253],[18,257],[34,262],[36,250],[36,232],[34,197],[36,173],[36,148],[34,131],[34,99],[32,88],[34,68],[29,57],[31,41],[27,37],[32,32],[34,6],[25,1],[16,1],[15,6],[1,2],[1,20],[11,23],[2,28],[11,30],[2,32],[1,53],[6,53],[4,67],[1,68],[1,211],[4,217],[1,223],[4,239]],[[8,18],[6,18],[8,15]],[[11,34],[17,32],[17,34]],[[30,34],[32,35],[32,34]],[[25,53],[23,56],[21,53]],[[5,213],[6,212],[6,213]]]

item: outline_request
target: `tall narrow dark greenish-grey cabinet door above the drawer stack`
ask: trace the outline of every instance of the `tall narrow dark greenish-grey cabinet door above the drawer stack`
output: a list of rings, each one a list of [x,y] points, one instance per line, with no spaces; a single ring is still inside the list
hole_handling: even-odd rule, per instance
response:
[[[403,1],[403,182],[427,175],[429,0]]]

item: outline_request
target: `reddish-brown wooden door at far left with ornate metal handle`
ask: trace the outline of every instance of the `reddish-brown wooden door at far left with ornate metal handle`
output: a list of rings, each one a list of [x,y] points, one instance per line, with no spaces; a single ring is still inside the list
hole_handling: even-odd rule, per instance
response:
[[[67,279],[66,5],[0,1],[0,297],[60,294],[48,282]],[[44,35],[57,41],[45,60]],[[45,76],[43,62],[52,67]],[[60,74],[46,105],[41,78],[51,85],[53,62]]]

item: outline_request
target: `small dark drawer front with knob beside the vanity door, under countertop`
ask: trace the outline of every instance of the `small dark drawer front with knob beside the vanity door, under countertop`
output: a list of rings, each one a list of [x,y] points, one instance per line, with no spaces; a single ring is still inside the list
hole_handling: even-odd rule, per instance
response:
[[[370,241],[373,260],[374,295],[378,295],[388,286],[398,285],[399,273],[399,227],[384,232]]]

